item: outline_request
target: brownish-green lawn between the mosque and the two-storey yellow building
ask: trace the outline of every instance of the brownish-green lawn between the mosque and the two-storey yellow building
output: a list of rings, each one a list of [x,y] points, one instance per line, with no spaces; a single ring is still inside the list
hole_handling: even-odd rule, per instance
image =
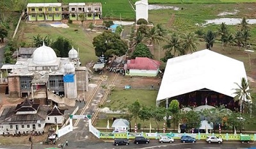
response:
[[[79,48],[79,57],[81,58],[81,63],[83,66],[92,60],[96,61],[97,56],[95,56],[92,40],[97,33],[86,33],[86,31],[77,24],[68,24],[68,26],[70,27],[62,28],[47,26],[45,23],[26,24],[25,22],[22,22],[17,37],[19,38],[20,42],[26,43],[26,47],[31,47],[33,36],[38,34],[40,34],[42,37],[49,36],[52,40],[55,40],[58,38],[58,36],[63,36],[64,38],[68,38],[73,43],[76,50]],[[77,31],[74,31],[75,29],[77,29]]]

